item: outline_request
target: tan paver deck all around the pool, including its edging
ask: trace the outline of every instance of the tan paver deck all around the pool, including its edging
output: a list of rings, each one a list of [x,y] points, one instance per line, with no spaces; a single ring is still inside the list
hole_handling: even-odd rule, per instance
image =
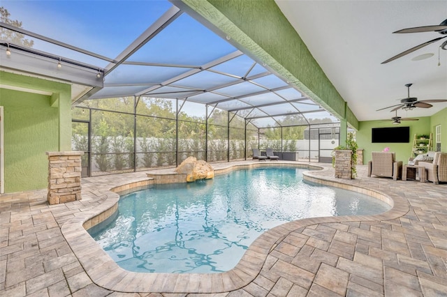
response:
[[[283,224],[212,275],[126,272],[82,228],[115,204],[110,188],[147,172],[83,178],[82,200],[66,204],[48,205],[47,190],[0,195],[0,296],[447,296],[447,184],[368,178],[365,165],[340,180],[312,165],[325,169],[310,180],[391,199],[393,209]]]

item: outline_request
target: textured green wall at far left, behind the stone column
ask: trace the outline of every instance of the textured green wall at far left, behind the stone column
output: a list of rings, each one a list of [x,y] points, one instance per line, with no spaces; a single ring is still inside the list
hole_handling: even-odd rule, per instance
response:
[[[71,86],[3,71],[0,81],[5,192],[47,188],[46,152],[71,151]]]

